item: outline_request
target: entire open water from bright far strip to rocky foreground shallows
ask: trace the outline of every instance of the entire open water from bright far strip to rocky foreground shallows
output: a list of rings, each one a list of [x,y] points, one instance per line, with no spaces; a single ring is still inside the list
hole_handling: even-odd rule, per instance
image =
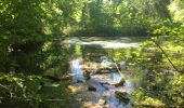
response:
[[[129,38],[110,39],[110,41],[102,39],[89,41],[88,38],[74,38],[67,42],[74,46],[74,56],[70,62],[73,83],[68,89],[76,94],[76,98],[82,103],[82,107],[131,108],[131,98],[128,98],[127,103],[120,100],[116,95],[117,91],[131,94],[133,91],[131,78],[119,70],[121,65],[115,66],[107,51],[109,49],[137,48],[141,41],[133,41]],[[123,62],[120,60],[117,64]],[[122,78],[126,79],[124,83],[116,86]]]

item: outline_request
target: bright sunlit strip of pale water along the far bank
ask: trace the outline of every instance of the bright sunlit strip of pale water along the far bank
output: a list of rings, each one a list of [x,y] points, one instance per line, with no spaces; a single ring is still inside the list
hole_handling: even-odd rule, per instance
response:
[[[141,39],[141,38],[140,38]],[[108,37],[105,38],[69,38],[68,40],[65,40],[65,43],[70,44],[79,44],[79,45],[101,45],[104,49],[117,49],[117,48],[139,48],[141,42],[137,38],[111,38],[108,39]]]

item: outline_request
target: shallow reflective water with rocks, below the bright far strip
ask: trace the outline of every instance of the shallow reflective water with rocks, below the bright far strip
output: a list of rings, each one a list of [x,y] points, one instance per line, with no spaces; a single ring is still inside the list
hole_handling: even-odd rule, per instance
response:
[[[119,62],[119,66],[124,67],[122,64],[127,60],[127,50],[122,49],[103,49],[98,45],[79,45],[81,40],[74,42],[74,55],[78,55],[70,62],[70,71],[75,75],[73,78],[73,86],[82,86],[80,91],[76,93],[82,98],[83,105],[88,108],[131,108],[130,103],[123,103],[119,100],[115,94],[117,91],[123,91],[128,94],[132,92],[132,83],[130,78],[122,72],[120,75],[115,69],[115,63],[113,58],[115,57]],[[93,42],[94,43],[94,42]],[[101,43],[100,41],[97,43]],[[129,44],[130,45],[130,44]],[[124,53],[126,52],[126,53]],[[129,51],[131,52],[131,51]],[[116,54],[115,54],[116,53]],[[118,64],[118,63],[117,63]],[[122,68],[121,67],[121,68]],[[84,71],[83,71],[84,70]],[[101,71],[98,71],[101,70]],[[103,72],[106,70],[108,72]],[[115,71],[113,71],[115,70]],[[90,79],[84,80],[87,72],[90,73]],[[98,71],[98,72],[95,72]],[[101,73],[100,73],[101,72]],[[94,73],[94,75],[93,75]],[[118,82],[124,77],[126,82],[116,86]],[[80,83],[79,83],[80,82]],[[89,91],[90,87],[94,87],[93,91]],[[77,96],[78,98],[78,96]],[[103,105],[98,103],[104,103]],[[92,106],[87,106],[92,105]]]

